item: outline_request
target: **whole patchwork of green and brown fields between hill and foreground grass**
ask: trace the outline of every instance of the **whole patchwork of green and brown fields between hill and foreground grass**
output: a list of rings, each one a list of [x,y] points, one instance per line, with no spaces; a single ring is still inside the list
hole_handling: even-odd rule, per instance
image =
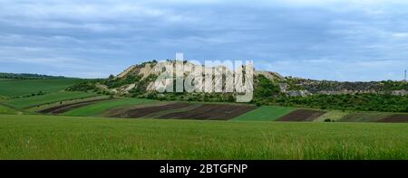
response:
[[[146,98],[110,98],[92,92],[64,91],[66,87],[78,81],[80,80],[0,80],[0,113],[238,121],[408,122],[406,113],[316,110],[277,106],[256,107],[250,104],[158,101]],[[42,91],[43,94],[38,95],[37,91]]]

